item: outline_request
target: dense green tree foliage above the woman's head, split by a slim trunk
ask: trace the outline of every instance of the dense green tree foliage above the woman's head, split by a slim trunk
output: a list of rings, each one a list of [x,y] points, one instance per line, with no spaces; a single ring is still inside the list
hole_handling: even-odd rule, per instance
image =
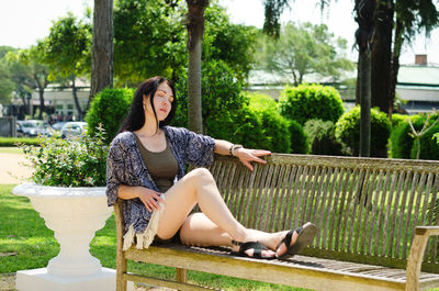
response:
[[[117,0],[114,8],[116,85],[137,85],[148,76],[175,81],[188,67],[187,3],[182,0]],[[225,61],[244,80],[254,67],[256,27],[230,23],[211,1],[204,12],[202,61]]]

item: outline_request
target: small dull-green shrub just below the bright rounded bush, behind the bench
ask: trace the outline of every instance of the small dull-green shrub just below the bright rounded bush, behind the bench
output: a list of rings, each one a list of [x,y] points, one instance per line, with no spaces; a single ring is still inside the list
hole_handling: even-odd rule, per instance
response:
[[[336,138],[336,125],[331,121],[308,120],[304,131],[314,155],[342,156],[342,145]]]

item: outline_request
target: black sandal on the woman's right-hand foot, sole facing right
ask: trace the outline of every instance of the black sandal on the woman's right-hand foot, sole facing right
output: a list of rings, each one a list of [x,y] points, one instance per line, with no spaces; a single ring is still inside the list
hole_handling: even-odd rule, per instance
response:
[[[293,234],[296,232],[299,234],[297,240],[294,245],[291,246],[291,239],[293,238]],[[313,223],[306,223],[304,226],[301,226],[295,230],[291,230],[288,232],[285,237],[275,247],[278,249],[282,244],[285,244],[288,247],[285,254],[279,256],[279,258],[291,258],[294,255],[297,255],[302,251],[307,245],[309,245],[314,237],[317,234],[317,227]]]

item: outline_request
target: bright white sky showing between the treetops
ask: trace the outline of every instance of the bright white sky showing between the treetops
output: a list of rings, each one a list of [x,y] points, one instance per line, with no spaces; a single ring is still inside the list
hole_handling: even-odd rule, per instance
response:
[[[320,13],[315,0],[295,0],[286,9],[281,21],[325,23],[336,36],[348,41],[348,56],[357,60],[358,53],[352,49],[357,24],[351,13],[353,0],[330,1],[328,9]],[[234,23],[263,25],[262,0],[219,0]],[[30,47],[38,38],[48,35],[52,22],[67,14],[83,15],[86,7],[93,0],[0,0],[0,46]],[[403,48],[402,64],[413,64],[415,54],[427,54],[428,63],[439,65],[439,29],[429,38],[418,35],[410,46]]]

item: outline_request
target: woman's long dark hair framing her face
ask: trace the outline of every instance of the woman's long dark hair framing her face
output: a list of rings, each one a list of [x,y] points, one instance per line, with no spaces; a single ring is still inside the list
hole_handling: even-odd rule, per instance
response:
[[[157,88],[164,82],[166,82],[171,88],[173,94],[173,101],[171,102],[171,110],[168,116],[164,121],[158,122],[156,109],[154,108],[154,94],[156,93]],[[145,97],[149,96],[149,102],[153,107],[154,116],[156,117],[157,128],[168,125],[172,121],[172,117],[176,114],[177,110],[176,88],[172,81],[166,79],[165,77],[156,76],[145,80],[137,88],[136,92],[134,93],[133,102],[131,103],[128,115],[122,122],[122,126],[119,130],[119,133],[127,131],[130,132],[138,131],[142,128],[142,126],[144,126],[145,124],[144,96]]]

